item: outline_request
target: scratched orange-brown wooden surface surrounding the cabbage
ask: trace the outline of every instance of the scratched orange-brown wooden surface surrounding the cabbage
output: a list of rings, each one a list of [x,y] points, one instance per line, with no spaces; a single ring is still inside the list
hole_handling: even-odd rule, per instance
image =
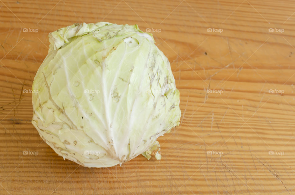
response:
[[[0,194],[295,194],[294,11],[290,0],[0,0]],[[160,161],[85,168],[31,124],[22,90],[48,33],[99,21],[161,31],[182,117],[159,138]]]

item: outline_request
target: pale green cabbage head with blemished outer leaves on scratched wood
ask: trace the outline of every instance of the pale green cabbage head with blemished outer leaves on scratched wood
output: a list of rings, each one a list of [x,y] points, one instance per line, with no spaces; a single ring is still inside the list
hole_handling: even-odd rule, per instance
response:
[[[32,123],[64,159],[109,167],[160,147],[179,125],[170,63],[137,25],[74,24],[49,34],[33,81]]]

